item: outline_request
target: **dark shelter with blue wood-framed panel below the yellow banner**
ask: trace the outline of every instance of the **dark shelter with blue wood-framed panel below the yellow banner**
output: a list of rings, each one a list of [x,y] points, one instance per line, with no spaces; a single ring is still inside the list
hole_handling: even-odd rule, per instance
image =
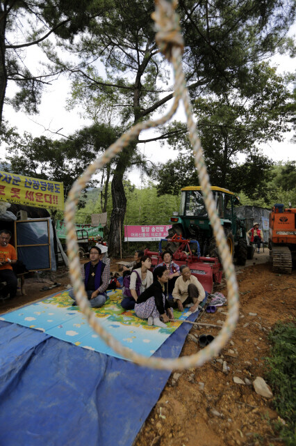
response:
[[[17,258],[27,270],[56,270],[57,240],[51,217],[46,209],[8,203],[0,206],[0,230],[13,234],[10,243],[17,249]],[[28,220],[17,220],[19,211],[26,211]]]

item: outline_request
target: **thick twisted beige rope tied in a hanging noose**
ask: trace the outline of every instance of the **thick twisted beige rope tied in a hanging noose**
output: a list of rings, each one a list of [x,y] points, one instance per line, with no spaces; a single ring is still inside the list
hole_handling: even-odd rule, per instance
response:
[[[211,192],[211,184],[206,171],[206,164],[204,162],[204,156],[202,153],[202,146],[200,140],[197,137],[197,128],[195,122],[192,119],[192,109],[186,89],[186,81],[182,70],[181,54],[183,51],[183,39],[179,32],[179,20],[174,12],[176,8],[176,1],[156,0],[156,11],[152,15],[156,22],[156,28],[158,33],[156,34],[156,42],[162,49],[165,57],[172,62],[174,68],[174,103],[172,109],[162,118],[156,121],[147,121],[145,123],[138,123],[134,125],[128,132],[122,135],[117,141],[112,144],[97,160],[88,166],[83,174],[75,181],[72,189],[69,192],[66,205],[65,205],[65,222],[67,227],[67,250],[69,253],[69,274],[76,295],[76,301],[79,303],[81,311],[88,319],[88,323],[97,334],[106,342],[106,344],[112,348],[115,352],[119,353],[126,359],[129,359],[137,364],[145,367],[151,367],[153,369],[188,369],[190,367],[202,366],[206,361],[210,360],[213,356],[217,355],[227,341],[231,337],[231,334],[236,326],[238,320],[238,286],[236,282],[236,275],[229,253],[229,247],[224,236],[224,231],[220,224],[220,219],[217,216],[215,209],[215,201],[213,200],[213,194]],[[100,324],[99,319],[95,317],[94,312],[90,309],[88,299],[85,293],[85,287],[81,280],[80,263],[78,256],[78,244],[76,241],[76,232],[74,226],[74,217],[76,206],[79,201],[81,191],[84,189],[86,183],[90,180],[92,175],[101,169],[107,162],[110,162],[117,153],[122,151],[122,148],[127,146],[130,141],[138,137],[142,130],[147,128],[153,128],[158,125],[166,123],[176,112],[179,105],[179,100],[183,100],[183,104],[186,109],[186,116],[188,121],[188,131],[190,142],[193,146],[195,154],[195,165],[197,167],[199,182],[202,186],[202,193],[204,201],[206,203],[206,209],[210,217],[213,232],[217,240],[217,247],[222,259],[222,266],[225,272],[227,281],[228,302],[229,302],[229,314],[225,321],[222,330],[218,336],[195,355],[183,356],[176,359],[159,358],[159,357],[146,357],[138,355],[130,348],[122,346],[110,332],[107,332]]]

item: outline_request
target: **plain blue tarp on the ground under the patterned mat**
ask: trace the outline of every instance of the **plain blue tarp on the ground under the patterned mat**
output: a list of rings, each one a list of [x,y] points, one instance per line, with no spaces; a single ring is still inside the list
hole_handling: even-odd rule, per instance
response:
[[[190,328],[154,355],[178,357]],[[169,376],[0,321],[0,445],[131,445]]]

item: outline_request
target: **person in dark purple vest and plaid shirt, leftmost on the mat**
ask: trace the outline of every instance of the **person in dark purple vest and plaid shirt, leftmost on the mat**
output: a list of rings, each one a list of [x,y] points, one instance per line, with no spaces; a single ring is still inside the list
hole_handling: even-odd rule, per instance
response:
[[[92,246],[90,248],[90,262],[85,263],[81,271],[85,291],[88,295],[88,300],[90,300],[90,307],[95,308],[103,307],[106,302],[107,294],[105,291],[108,288],[110,279],[110,265],[102,262],[102,258],[101,249],[97,246]],[[77,305],[73,290],[69,291],[69,296],[74,300],[72,306]]]

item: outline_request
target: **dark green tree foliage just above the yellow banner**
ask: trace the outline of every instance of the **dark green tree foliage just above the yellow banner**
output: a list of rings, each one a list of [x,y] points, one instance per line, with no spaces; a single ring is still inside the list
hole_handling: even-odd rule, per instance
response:
[[[98,154],[117,139],[120,130],[104,124],[94,124],[59,140],[47,137],[33,138],[25,133],[20,137],[10,130],[6,134],[9,171],[15,174],[61,181],[65,197],[74,181]],[[101,169],[104,176],[105,169]],[[97,184],[94,179],[89,185]],[[88,186],[89,186],[88,185]],[[108,187],[108,185],[107,185]],[[79,207],[83,206],[83,193]]]

